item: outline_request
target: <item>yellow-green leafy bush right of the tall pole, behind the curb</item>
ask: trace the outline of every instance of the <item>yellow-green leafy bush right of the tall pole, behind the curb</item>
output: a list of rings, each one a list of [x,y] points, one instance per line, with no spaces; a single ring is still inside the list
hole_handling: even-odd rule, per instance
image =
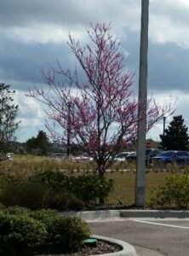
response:
[[[152,207],[187,208],[189,204],[189,175],[167,177],[159,189],[152,190]]]

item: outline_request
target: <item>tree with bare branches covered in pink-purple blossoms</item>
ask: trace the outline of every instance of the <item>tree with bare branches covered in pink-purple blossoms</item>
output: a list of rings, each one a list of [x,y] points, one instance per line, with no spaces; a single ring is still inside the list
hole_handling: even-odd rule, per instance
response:
[[[131,89],[133,73],[124,73],[123,54],[110,30],[110,25],[91,25],[87,31],[90,44],[85,46],[69,37],[68,44],[83,68],[86,82],[79,81],[77,69],[64,70],[58,62],[56,69],[43,72],[49,92],[36,88],[29,93],[48,106],[48,118],[63,128],[62,133],[54,131],[47,122],[51,136],[81,145],[93,155],[96,172],[101,176],[115,155],[134,141],[138,122],[144,118],[138,116],[143,102],[135,99]],[[171,108],[160,107],[153,98],[147,100],[146,131]]]

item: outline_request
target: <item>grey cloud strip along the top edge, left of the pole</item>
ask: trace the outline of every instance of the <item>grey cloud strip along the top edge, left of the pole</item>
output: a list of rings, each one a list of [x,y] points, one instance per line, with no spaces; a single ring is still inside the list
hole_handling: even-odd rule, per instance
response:
[[[133,14],[139,10],[140,1],[114,0],[2,0],[0,24],[30,26],[32,23],[53,23],[61,26],[88,25],[90,20],[114,20],[123,13]]]

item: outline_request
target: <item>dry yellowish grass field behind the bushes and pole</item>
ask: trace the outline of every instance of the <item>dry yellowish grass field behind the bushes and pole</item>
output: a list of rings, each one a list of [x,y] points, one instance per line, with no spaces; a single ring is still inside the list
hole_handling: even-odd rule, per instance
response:
[[[60,159],[50,159],[40,156],[31,155],[14,155],[13,161],[0,162],[1,172],[19,172],[21,175],[30,175],[31,172],[40,170],[61,170],[67,175],[80,175],[92,172],[94,166],[89,163],[68,162]],[[127,170],[127,171],[125,171]],[[188,173],[181,170],[177,166],[167,166],[166,169],[153,167],[146,170],[146,205],[149,202],[152,188],[158,188],[165,181],[166,177],[170,177],[175,173]],[[114,192],[109,196],[106,203],[123,205],[132,205],[135,203],[135,164],[116,163],[108,172],[106,177],[111,177],[114,181]]]

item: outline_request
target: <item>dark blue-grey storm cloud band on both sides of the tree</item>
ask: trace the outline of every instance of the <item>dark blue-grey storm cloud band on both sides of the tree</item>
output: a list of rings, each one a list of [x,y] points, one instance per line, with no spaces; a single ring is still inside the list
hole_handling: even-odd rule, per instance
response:
[[[138,86],[140,34],[124,29],[121,50],[129,53],[124,63],[129,71],[135,73],[135,87]],[[77,60],[69,46],[54,43],[24,44],[9,38],[0,41],[0,77],[15,81],[16,89],[28,90],[26,84],[43,83],[40,73],[56,67],[59,60],[62,67],[73,69]],[[188,90],[189,51],[177,44],[155,44],[149,41],[148,51],[149,90]],[[83,80],[83,73],[80,73]],[[20,83],[19,83],[20,81]]]

